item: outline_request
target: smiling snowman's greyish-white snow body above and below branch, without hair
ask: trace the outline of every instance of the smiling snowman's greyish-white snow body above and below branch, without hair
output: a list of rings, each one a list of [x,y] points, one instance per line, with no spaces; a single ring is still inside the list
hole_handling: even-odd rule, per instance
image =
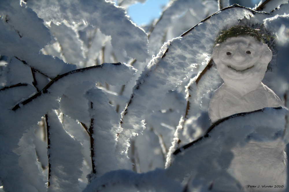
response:
[[[224,80],[210,101],[212,122],[237,113],[281,106],[279,97],[261,82],[272,59],[266,44],[251,36],[230,37],[215,46],[212,58]],[[272,133],[260,140],[274,128],[256,127],[254,137],[243,138],[250,138],[247,144],[230,149],[233,158],[227,171],[238,179],[244,191],[284,191],[284,188],[262,188],[269,183],[286,188],[286,142],[274,139]],[[248,187],[251,184],[256,188]]]

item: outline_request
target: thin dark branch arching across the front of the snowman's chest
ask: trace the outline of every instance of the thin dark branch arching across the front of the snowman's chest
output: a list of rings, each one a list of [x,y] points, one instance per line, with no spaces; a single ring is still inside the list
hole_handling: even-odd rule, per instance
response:
[[[282,107],[273,107],[273,109],[282,109]],[[251,111],[251,112],[238,113],[238,114],[234,114],[234,115],[222,118],[222,119],[216,121],[213,125],[211,125],[211,127],[209,127],[209,129],[205,132],[205,134],[202,137],[200,137],[197,140],[194,140],[194,141],[192,141],[192,142],[190,142],[190,143],[178,148],[177,150],[175,150],[173,155],[177,155],[178,153],[184,151],[185,149],[187,149],[190,146],[194,145],[195,143],[199,142],[203,138],[210,137],[209,133],[214,129],[214,127],[216,127],[217,125],[219,125],[220,123],[222,123],[222,122],[224,122],[224,121],[226,121],[228,119],[231,119],[231,118],[234,118],[234,117],[238,117],[238,116],[245,116],[247,114],[256,113],[256,112],[262,112],[262,111],[264,111],[264,108],[263,109],[259,109],[259,110],[255,110],[255,111]]]

